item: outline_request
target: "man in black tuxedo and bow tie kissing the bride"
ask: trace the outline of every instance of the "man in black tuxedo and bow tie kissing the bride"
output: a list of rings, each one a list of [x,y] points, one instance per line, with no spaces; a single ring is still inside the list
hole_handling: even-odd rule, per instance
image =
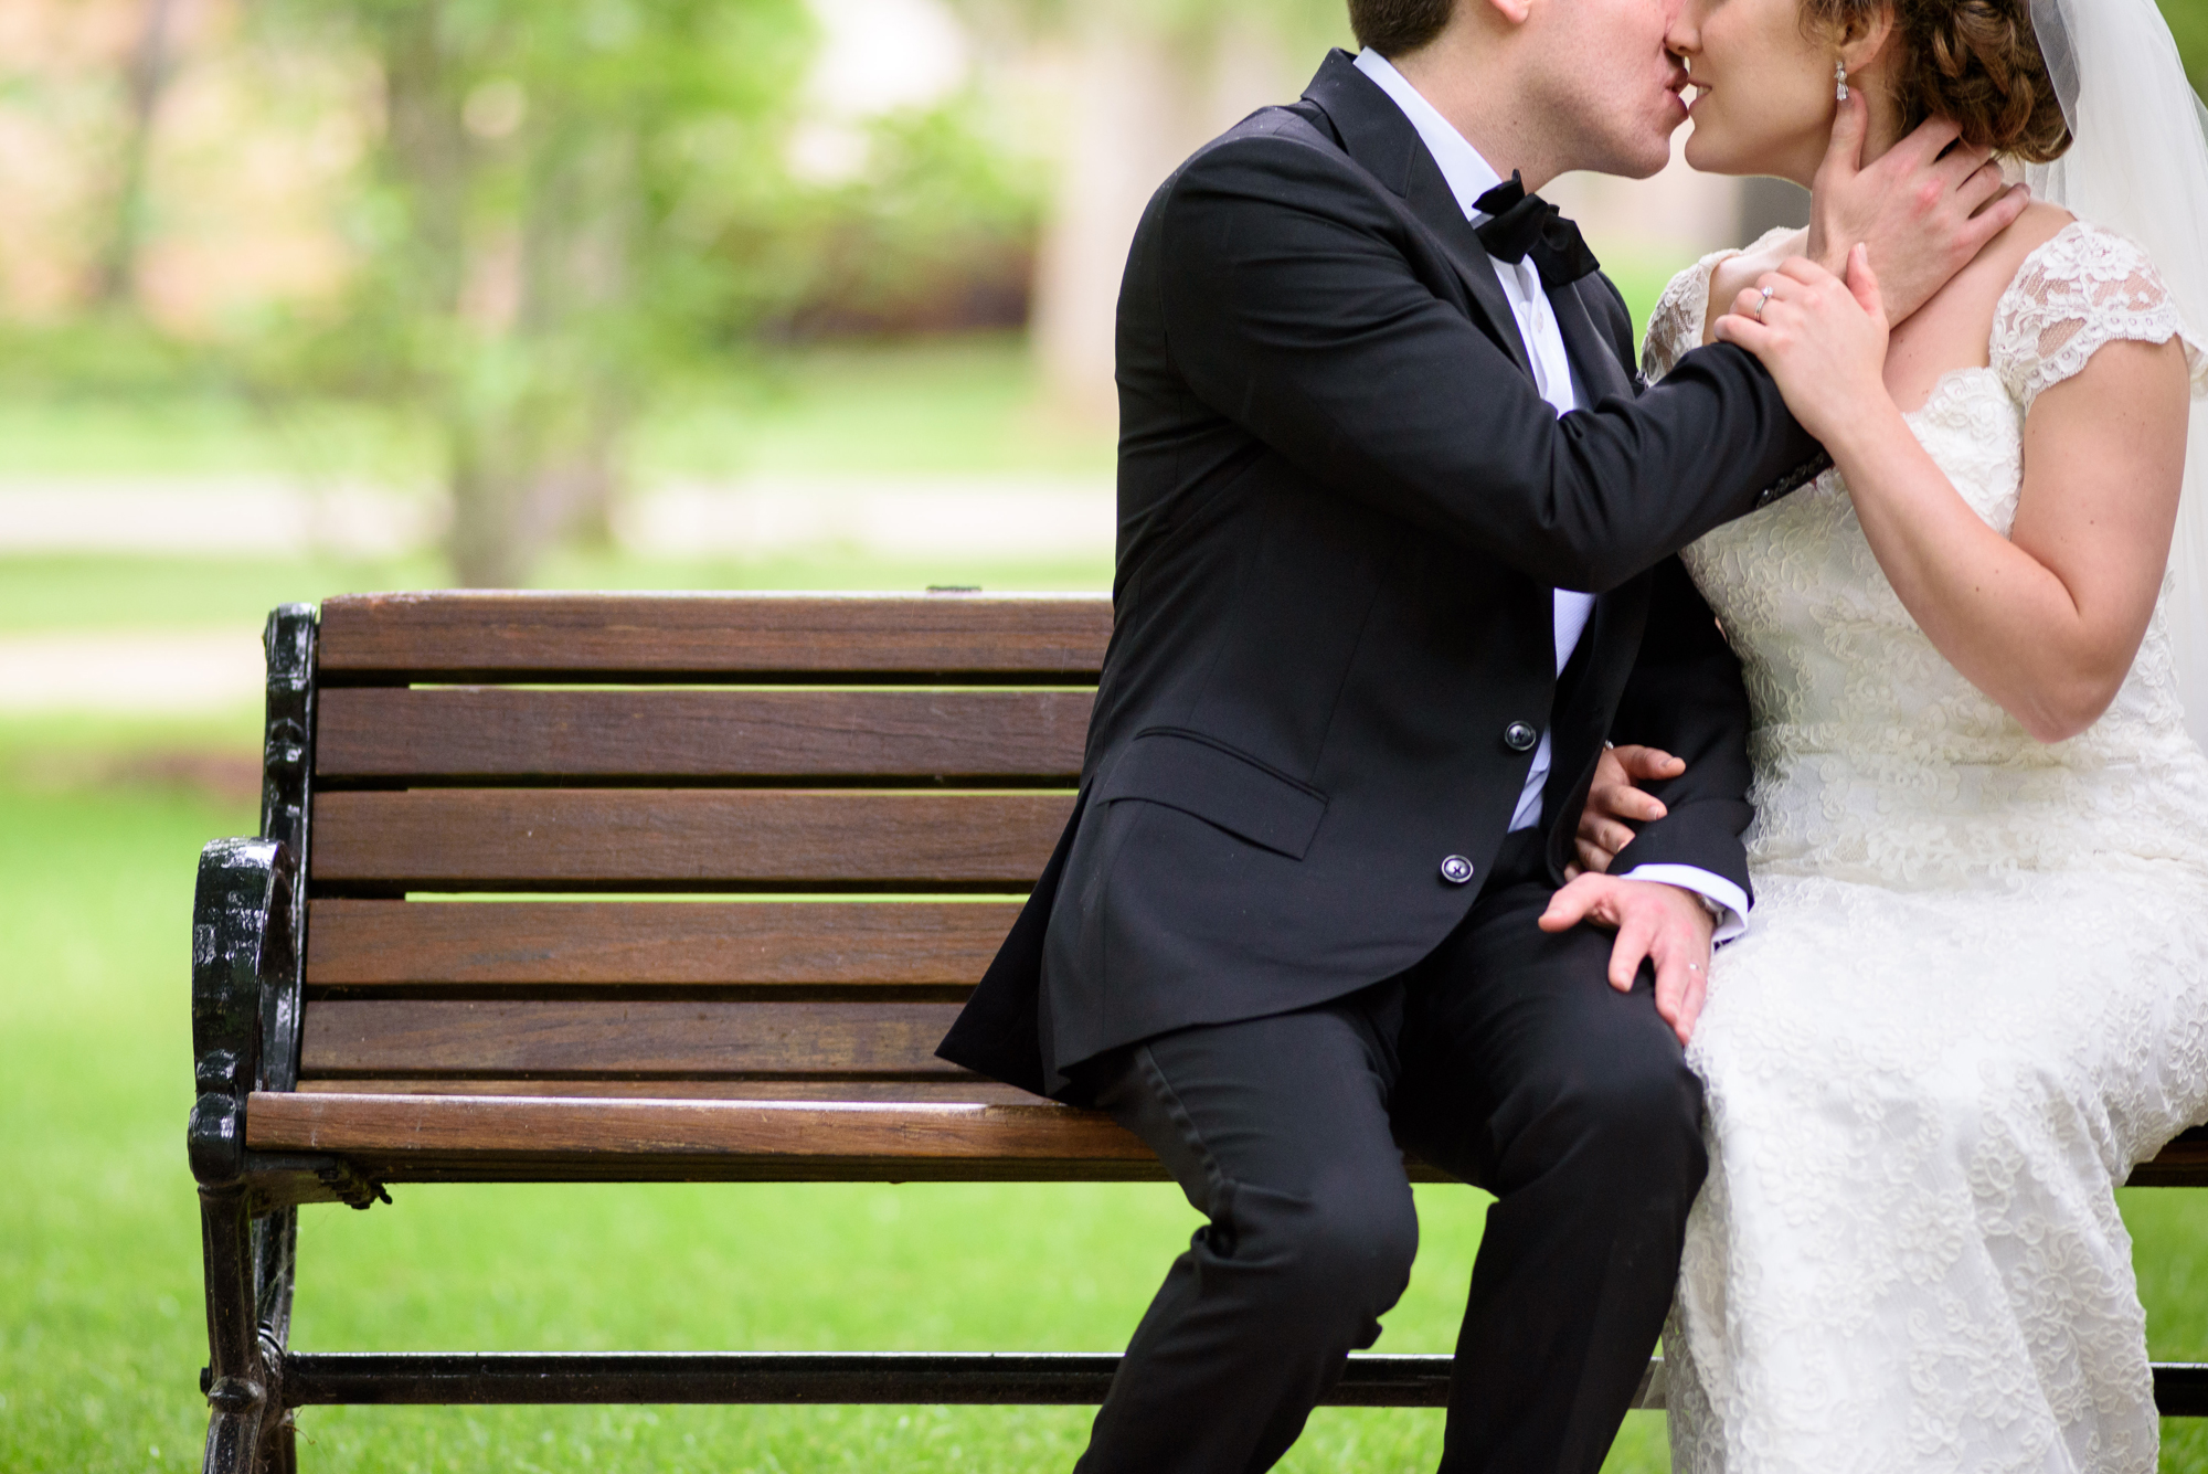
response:
[[[1665,163],[1674,4],[1351,0],[1365,53],[1135,236],[1082,797],[943,1042],[1111,1110],[1208,1218],[1082,1470],[1294,1443],[1406,1282],[1398,1139],[1497,1196],[1444,1467],[1596,1470],[1656,1342],[1751,814],[1740,669],[1674,554],[1824,461],[1731,346],[1643,386],[1616,289],[1506,177]],[[1868,236],[1903,311],[2020,207],[1983,154],[1844,143],[1819,247]],[[1685,775],[1559,891],[1612,735]]]

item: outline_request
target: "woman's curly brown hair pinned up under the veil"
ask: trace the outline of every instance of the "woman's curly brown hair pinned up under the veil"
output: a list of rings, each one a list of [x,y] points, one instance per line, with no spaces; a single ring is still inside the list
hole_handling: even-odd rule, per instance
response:
[[[1802,18],[1853,35],[1883,4],[1894,11],[1903,130],[1945,117],[1976,148],[2027,163],[2062,157],[2069,124],[2031,33],[2029,0],[1802,0]]]

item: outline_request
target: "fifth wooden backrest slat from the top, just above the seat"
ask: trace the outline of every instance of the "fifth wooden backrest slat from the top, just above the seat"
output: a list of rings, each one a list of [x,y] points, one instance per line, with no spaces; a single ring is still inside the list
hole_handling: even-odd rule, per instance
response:
[[[896,1075],[936,1059],[958,1004],[369,997],[307,1004],[300,1075]]]

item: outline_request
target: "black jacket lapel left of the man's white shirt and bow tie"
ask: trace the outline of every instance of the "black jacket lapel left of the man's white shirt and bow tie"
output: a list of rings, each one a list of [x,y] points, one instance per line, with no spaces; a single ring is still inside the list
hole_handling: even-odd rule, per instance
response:
[[[1530,377],[1532,364],[1526,357],[1526,342],[1519,338],[1517,316],[1510,311],[1504,285],[1495,280],[1495,263],[1488,260],[1473,223],[1464,218],[1457,196],[1442,179],[1442,165],[1426,152],[1418,128],[1402,115],[1395,99],[1360,73],[1347,51],[1327,55],[1303,97],[1327,115],[1342,150],[1402,199],[1418,223],[1440,243],[1457,280],[1479,305],[1479,316],[1486,318],[1482,327]]]

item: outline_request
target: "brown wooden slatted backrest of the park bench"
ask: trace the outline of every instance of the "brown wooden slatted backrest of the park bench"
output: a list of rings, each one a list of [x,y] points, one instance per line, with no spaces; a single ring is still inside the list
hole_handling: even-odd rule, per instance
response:
[[[991,1101],[1104,596],[333,598],[300,1090]]]

